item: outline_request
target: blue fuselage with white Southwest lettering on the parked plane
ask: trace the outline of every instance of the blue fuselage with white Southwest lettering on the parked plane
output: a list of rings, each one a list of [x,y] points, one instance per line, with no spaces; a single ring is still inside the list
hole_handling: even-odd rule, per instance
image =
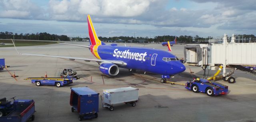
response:
[[[103,60],[121,60],[127,63],[123,68],[131,68],[161,75],[174,75],[186,70],[170,52],[151,48],[99,45],[93,51]],[[96,56],[97,57],[97,56]],[[166,60],[167,59],[167,60]]]

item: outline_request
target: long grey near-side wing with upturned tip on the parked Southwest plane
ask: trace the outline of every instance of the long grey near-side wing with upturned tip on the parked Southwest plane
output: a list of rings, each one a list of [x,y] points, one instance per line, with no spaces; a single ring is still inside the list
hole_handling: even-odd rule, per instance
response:
[[[13,43],[13,41],[12,41]],[[14,44],[14,43],[13,43]],[[41,55],[41,54],[23,54],[23,53],[20,53],[18,52],[16,46],[14,45],[16,51],[18,54],[21,54],[21,55],[30,55],[30,56],[44,56],[44,57],[56,57],[56,58],[67,58],[67,59],[70,59],[70,60],[84,60],[84,61],[87,61],[87,62],[90,62],[90,61],[95,61],[95,62],[98,62],[99,64],[101,62],[108,62],[108,63],[113,63],[113,64],[116,64],[118,66],[126,66],[127,63],[126,62],[123,62],[121,60],[102,60],[102,59],[90,59],[90,58],[77,58],[77,57],[66,57],[66,56],[51,56],[51,55]]]

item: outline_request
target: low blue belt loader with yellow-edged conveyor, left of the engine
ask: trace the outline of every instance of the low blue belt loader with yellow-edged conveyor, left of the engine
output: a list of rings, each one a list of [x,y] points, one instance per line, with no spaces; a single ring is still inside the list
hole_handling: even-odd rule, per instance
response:
[[[62,87],[73,83],[74,77],[28,77],[26,80],[31,80],[31,83],[36,83],[36,86],[41,85],[55,85],[56,87]]]

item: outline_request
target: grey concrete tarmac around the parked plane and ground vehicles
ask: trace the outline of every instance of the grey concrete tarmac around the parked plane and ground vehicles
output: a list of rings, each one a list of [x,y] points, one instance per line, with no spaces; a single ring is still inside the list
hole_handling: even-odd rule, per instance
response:
[[[89,45],[88,42],[68,42],[76,45]],[[124,43],[118,43],[124,46]],[[167,50],[161,44],[134,44],[140,46]],[[53,44],[42,46],[19,46],[18,51],[30,54],[48,54],[58,56],[95,58],[88,48]],[[178,58],[184,58],[184,45],[172,46],[172,53]],[[233,75],[236,83],[228,85],[229,94],[209,97],[205,93],[193,93],[181,85],[160,83],[160,75],[137,71],[129,73],[120,68],[116,77],[102,74],[96,62],[83,60],[68,60],[62,58],[26,56],[17,54],[14,47],[0,48],[0,58],[5,58],[7,69],[0,71],[0,98],[16,96],[17,99],[34,99],[34,122],[79,122],[78,113],[71,112],[69,104],[70,87],[85,87],[100,93],[103,89],[118,87],[139,88],[139,101],[135,107],[130,104],[114,106],[114,111],[102,108],[99,99],[98,118],[84,120],[90,122],[256,122],[256,77],[236,70]],[[50,85],[36,86],[26,77],[42,77],[47,72],[48,77],[58,74],[57,68],[72,68],[77,71],[78,79],[65,87]],[[16,78],[10,77],[15,72]],[[194,72],[194,73],[190,73]],[[209,76],[216,71],[210,70]],[[208,71],[206,72],[208,74]],[[200,67],[186,65],[186,71],[176,74],[171,81],[186,83],[193,76],[203,77]],[[136,76],[152,77],[157,81],[146,80]],[[30,122],[31,120],[29,120]]]

